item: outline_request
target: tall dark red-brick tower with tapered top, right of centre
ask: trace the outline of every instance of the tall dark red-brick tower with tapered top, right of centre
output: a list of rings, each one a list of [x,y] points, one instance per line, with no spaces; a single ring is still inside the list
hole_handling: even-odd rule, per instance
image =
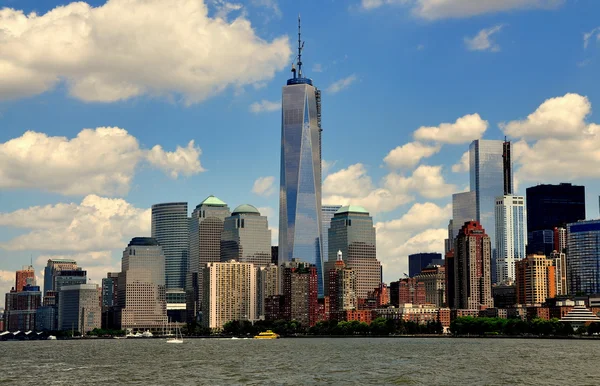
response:
[[[490,261],[492,244],[477,221],[466,223],[454,242],[453,305],[458,309],[493,307]],[[450,283],[449,283],[450,285]]]

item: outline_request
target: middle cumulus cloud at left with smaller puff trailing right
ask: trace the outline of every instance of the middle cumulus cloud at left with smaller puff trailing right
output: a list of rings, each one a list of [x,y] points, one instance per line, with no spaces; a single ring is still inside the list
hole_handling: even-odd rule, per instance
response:
[[[1,11],[0,11],[1,12]],[[84,129],[77,137],[50,137],[27,131],[0,143],[0,188],[33,188],[66,195],[123,195],[142,160],[176,178],[204,171],[201,151],[140,149],[138,140],[118,127]]]

